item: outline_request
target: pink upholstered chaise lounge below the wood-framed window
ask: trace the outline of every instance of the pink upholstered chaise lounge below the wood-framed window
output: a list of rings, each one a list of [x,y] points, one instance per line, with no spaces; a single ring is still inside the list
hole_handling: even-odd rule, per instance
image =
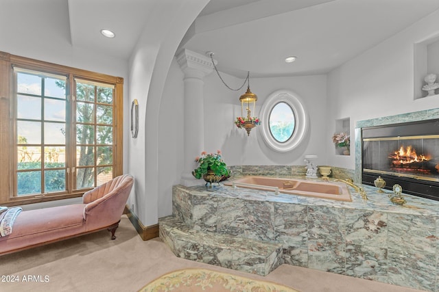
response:
[[[22,211],[12,233],[0,237],[0,255],[108,229],[111,239],[119,226],[134,178],[130,174],[87,191],[82,204]]]

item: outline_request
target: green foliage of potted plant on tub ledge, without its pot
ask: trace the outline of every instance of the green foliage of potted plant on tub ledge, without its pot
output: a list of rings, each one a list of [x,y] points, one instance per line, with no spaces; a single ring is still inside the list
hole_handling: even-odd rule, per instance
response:
[[[224,179],[230,177],[227,165],[221,157],[221,150],[217,150],[216,153],[210,154],[203,151],[201,152],[200,157],[195,157],[195,162],[199,163],[198,168],[192,172],[192,175],[195,176],[195,178],[202,178],[209,170],[216,176],[223,176]]]

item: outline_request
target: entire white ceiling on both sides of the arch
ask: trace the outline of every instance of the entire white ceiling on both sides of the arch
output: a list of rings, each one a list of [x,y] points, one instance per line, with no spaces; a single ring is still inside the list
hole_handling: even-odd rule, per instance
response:
[[[0,0],[0,36],[50,31],[50,41],[128,60],[161,1]],[[179,49],[213,51],[219,70],[239,78],[325,74],[438,9],[439,0],[211,0]],[[289,55],[297,61],[285,63]]]

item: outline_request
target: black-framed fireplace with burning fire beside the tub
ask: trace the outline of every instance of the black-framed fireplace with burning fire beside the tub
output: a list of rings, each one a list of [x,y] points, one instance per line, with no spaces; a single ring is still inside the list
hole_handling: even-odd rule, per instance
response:
[[[361,129],[362,182],[381,176],[386,189],[439,200],[439,119]]]

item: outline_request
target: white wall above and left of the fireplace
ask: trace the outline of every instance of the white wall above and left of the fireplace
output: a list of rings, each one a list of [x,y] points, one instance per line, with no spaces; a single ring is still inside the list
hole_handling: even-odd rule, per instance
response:
[[[355,57],[328,75],[328,133],[335,120],[351,118],[351,135],[359,120],[439,107],[439,97],[414,100],[414,43],[437,35],[439,10],[392,38]],[[352,139],[353,140],[353,139]],[[326,141],[329,165],[355,168],[355,153],[335,155]]]

